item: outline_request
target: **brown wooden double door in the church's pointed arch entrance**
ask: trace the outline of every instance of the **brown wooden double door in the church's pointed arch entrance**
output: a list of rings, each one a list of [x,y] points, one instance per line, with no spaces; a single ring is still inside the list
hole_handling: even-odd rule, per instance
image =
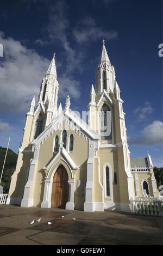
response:
[[[64,166],[59,166],[53,177],[51,206],[64,208],[68,202],[68,174]]]

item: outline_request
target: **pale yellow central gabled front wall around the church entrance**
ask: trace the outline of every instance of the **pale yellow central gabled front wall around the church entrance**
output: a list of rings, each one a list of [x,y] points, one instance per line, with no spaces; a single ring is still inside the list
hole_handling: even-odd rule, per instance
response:
[[[62,129],[70,129],[69,126],[64,124]],[[47,166],[49,162],[55,157],[54,155],[54,144],[55,144],[55,136],[60,136],[62,131],[57,130],[53,132],[49,138],[46,138],[43,143],[40,143],[40,150],[39,150],[39,159],[37,161],[37,167],[35,168],[35,181],[33,182],[33,198],[34,198],[34,206],[40,206],[43,200],[43,190],[44,190],[44,181],[45,181],[45,171],[42,169],[43,167]],[[74,136],[74,144],[73,144],[73,151],[69,153],[69,138],[70,135]],[[80,147],[79,147],[80,145]],[[86,180],[86,173],[87,173],[87,146],[88,141],[82,138],[82,135],[79,136],[79,133],[72,130],[67,130],[67,143],[66,143],[66,151],[70,155],[71,159],[74,163],[79,166],[79,170],[73,171],[75,173],[75,184],[74,184],[74,204],[76,209],[83,210],[83,205],[85,202],[85,196],[77,196],[77,180]],[[63,158],[63,156],[59,156],[58,159]],[[57,160],[56,160],[57,161]],[[65,161],[67,161],[65,159]],[[59,162],[58,162],[59,164]],[[52,172],[52,171],[51,171]],[[49,178],[48,178],[49,179]],[[72,180],[72,179],[70,179]]]

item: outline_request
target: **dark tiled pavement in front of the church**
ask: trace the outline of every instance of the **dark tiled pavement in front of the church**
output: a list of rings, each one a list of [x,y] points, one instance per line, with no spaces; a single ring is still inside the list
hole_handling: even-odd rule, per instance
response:
[[[0,205],[0,245],[162,245],[162,217]]]

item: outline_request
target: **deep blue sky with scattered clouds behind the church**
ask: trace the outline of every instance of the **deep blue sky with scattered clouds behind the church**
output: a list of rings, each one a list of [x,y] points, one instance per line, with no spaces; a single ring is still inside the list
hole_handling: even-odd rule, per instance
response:
[[[131,157],[162,164],[162,1],[2,1],[0,146],[17,152],[26,113],[56,53],[59,100],[86,111],[102,40],[121,89]]]

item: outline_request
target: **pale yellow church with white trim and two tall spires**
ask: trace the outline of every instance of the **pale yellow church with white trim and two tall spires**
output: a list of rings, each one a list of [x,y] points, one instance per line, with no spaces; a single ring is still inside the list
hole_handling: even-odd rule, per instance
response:
[[[130,211],[130,199],[158,197],[151,156],[131,159],[115,69],[103,40],[87,121],[62,108],[55,54],[33,97],[7,204],[83,211]]]

